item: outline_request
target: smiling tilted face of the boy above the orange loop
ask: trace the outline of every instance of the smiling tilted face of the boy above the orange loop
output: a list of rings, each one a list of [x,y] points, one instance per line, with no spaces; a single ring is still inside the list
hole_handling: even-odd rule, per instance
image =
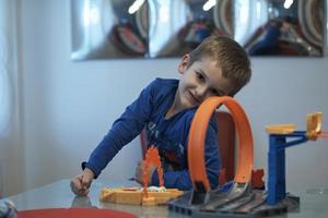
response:
[[[226,96],[233,93],[233,85],[222,76],[221,66],[212,58],[204,57],[189,66],[188,63],[189,56],[186,55],[178,65],[181,78],[176,102],[180,109],[197,107],[210,96]]]

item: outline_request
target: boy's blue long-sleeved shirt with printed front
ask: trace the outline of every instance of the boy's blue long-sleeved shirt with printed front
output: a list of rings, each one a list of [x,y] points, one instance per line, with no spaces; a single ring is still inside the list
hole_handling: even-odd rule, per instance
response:
[[[120,118],[114,122],[83,168],[91,169],[97,178],[114,156],[147,128],[149,146],[156,146],[161,156],[165,187],[192,189],[187,148],[189,129],[197,108],[183,110],[165,119],[177,87],[177,80],[164,78],[156,78],[145,87],[137,100],[128,106]],[[216,134],[216,123],[214,119],[211,119],[207,132],[204,158],[212,189],[218,186],[220,170]],[[156,170],[151,183],[152,185],[160,183]]]

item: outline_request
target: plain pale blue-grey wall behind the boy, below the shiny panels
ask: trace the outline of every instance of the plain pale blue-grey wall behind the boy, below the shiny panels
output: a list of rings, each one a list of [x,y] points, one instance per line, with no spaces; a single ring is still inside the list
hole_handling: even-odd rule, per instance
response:
[[[21,179],[25,185],[8,182],[8,195],[79,173],[80,162],[89,157],[142,87],[155,77],[178,77],[178,59],[72,62],[69,1],[21,3],[25,150],[22,150],[25,165],[21,166],[25,175]],[[305,130],[306,113],[323,111],[328,114],[328,59],[254,58],[251,61],[251,83],[236,98],[251,121],[255,165],[263,168],[268,147],[265,125],[295,123],[300,130]],[[327,142],[288,149],[289,185],[328,186]],[[140,157],[136,140],[114,158],[101,178],[132,177]],[[9,181],[12,175],[7,177]]]

